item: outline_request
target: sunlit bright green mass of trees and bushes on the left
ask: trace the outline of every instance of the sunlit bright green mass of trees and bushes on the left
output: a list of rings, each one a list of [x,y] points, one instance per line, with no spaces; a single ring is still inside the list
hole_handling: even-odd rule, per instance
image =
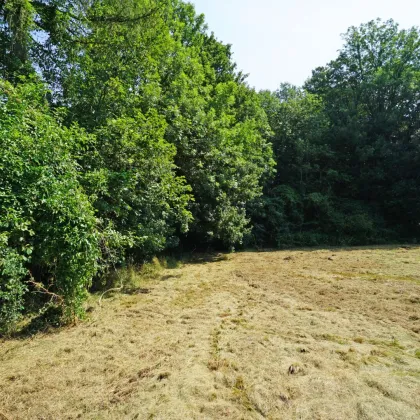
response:
[[[27,148],[2,167],[3,325],[40,291],[77,315],[93,276],[180,240],[243,243],[273,171],[270,128],[203,16],[177,0],[10,0],[0,16],[2,146]]]

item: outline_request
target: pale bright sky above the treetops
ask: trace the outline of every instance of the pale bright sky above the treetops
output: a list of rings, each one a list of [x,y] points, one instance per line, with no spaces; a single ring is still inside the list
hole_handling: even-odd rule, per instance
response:
[[[238,69],[257,89],[301,85],[337,56],[340,34],[378,17],[420,25],[420,0],[191,0],[209,30],[232,44]]]

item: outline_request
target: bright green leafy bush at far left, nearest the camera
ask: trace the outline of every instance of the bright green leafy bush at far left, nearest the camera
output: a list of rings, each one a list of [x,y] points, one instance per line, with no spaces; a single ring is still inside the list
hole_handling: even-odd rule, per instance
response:
[[[55,296],[80,314],[97,270],[99,236],[74,156],[91,141],[51,115],[37,82],[0,81],[0,331],[24,309],[25,293]]]

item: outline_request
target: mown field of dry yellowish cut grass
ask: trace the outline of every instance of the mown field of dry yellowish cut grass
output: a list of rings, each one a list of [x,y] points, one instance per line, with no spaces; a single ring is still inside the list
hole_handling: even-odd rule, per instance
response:
[[[0,419],[420,419],[420,248],[197,258],[0,342]]]

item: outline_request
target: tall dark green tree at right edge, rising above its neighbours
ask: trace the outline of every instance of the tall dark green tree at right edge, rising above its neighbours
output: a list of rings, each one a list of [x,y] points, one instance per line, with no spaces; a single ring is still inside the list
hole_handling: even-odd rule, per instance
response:
[[[380,207],[390,227],[419,231],[420,34],[393,21],[352,27],[339,57],[307,89],[325,103],[344,189]],[[401,232],[402,233],[402,232]]]

